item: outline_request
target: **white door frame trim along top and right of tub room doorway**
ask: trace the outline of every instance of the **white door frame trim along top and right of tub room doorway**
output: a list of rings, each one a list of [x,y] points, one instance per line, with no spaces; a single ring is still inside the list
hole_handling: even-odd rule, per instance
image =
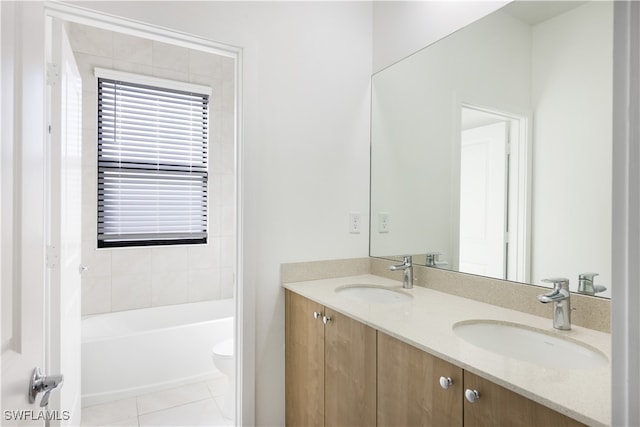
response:
[[[181,47],[197,49],[231,58],[235,62],[235,119],[234,119],[234,150],[235,150],[235,316],[234,316],[234,352],[236,361],[236,408],[235,421],[238,425],[252,425],[255,423],[254,414],[254,346],[255,326],[254,314],[251,310],[251,290],[243,280],[243,126],[242,126],[242,75],[243,50],[240,47],[229,46],[202,37],[177,32],[168,28],[161,28],[123,17],[107,15],[83,9],[68,4],[45,1],[45,14],[61,21],[90,25],[109,31],[153,39]],[[47,37],[50,37],[47,34]]]

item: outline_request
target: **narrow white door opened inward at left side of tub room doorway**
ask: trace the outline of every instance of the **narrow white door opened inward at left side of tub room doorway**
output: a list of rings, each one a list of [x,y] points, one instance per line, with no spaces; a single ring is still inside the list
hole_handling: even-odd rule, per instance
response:
[[[49,143],[49,330],[47,373],[64,375],[50,409],[68,411],[61,425],[80,424],[80,254],[82,79],[62,23],[52,23]],[[69,418],[69,419],[67,419]]]

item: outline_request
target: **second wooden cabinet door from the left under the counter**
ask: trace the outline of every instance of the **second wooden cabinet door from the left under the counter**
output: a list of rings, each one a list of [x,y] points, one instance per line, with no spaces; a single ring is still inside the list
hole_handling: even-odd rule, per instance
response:
[[[376,425],[376,331],[332,310],[324,330],[327,426]]]

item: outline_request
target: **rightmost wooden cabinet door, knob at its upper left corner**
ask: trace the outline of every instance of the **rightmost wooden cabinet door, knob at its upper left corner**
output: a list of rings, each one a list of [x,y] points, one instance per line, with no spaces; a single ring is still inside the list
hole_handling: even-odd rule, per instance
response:
[[[465,427],[573,427],[584,424],[540,405],[470,372],[464,373],[466,389],[477,390],[480,399],[464,401]],[[579,392],[579,391],[576,391]]]

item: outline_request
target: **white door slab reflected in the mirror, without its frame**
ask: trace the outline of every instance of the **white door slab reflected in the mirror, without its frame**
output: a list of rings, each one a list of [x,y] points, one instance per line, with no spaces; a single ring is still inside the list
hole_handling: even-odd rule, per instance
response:
[[[462,132],[460,271],[505,278],[508,123]]]

